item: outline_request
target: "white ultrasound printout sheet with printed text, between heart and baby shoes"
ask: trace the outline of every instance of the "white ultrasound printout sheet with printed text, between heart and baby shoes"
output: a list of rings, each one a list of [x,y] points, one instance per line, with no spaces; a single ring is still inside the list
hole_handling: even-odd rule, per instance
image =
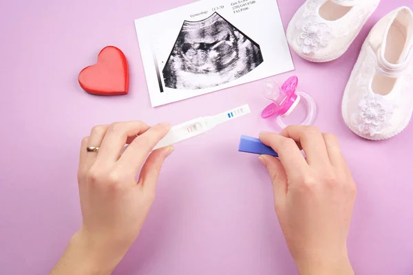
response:
[[[276,0],[202,0],[135,26],[152,107],[294,69]]]

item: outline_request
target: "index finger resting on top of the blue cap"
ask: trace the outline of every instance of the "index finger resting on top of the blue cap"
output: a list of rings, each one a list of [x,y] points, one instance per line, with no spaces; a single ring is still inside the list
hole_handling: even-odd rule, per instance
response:
[[[276,133],[260,133],[260,140],[278,153],[288,177],[306,173],[308,164],[294,140]]]

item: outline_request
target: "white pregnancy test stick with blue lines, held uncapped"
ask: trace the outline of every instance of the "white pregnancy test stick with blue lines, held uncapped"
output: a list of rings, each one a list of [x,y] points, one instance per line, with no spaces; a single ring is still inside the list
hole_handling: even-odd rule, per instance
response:
[[[248,104],[245,104],[224,113],[220,113],[219,115],[195,118],[194,120],[178,124],[169,130],[169,133],[156,144],[153,150],[196,137],[197,135],[213,129],[218,124],[222,124],[235,118],[240,118],[248,113],[251,113],[251,109]]]

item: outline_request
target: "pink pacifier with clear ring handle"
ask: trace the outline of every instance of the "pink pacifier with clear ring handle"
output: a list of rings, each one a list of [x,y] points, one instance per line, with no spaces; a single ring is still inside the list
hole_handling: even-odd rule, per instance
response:
[[[262,118],[271,118],[273,115],[277,115],[277,122],[282,128],[286,128],[288,124],[282,122],[282,118],[292,113],[299,104],[301,98],[305,98],[308,102],[308,114],[306,119],[301,122],[301,125],[311,125],[315,120],[316,104],[313,98],[304,91],[297,91],[298,78],[297,76],[291,76],[286,80],[282,87],[270,79],[265,83],[263,96],[267,100],[273,102],[268,105],[264,111],[262,111]]]

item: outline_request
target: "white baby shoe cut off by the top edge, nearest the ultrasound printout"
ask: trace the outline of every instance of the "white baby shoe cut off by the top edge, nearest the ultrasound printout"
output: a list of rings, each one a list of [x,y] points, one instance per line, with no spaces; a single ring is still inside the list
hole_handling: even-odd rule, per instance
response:
[[[307,0],[288,25],[288,43],[308,61],[333,61],[348,50],[379,3],[380,0]]]

